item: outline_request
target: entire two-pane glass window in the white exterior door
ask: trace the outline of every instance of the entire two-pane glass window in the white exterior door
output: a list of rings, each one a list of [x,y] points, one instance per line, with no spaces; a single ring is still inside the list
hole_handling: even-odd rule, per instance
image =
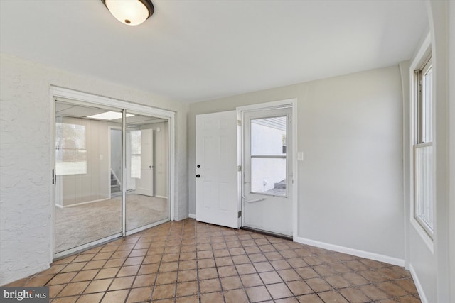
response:
[[[251,119],[251,192],[285,197],[287,116]]]

